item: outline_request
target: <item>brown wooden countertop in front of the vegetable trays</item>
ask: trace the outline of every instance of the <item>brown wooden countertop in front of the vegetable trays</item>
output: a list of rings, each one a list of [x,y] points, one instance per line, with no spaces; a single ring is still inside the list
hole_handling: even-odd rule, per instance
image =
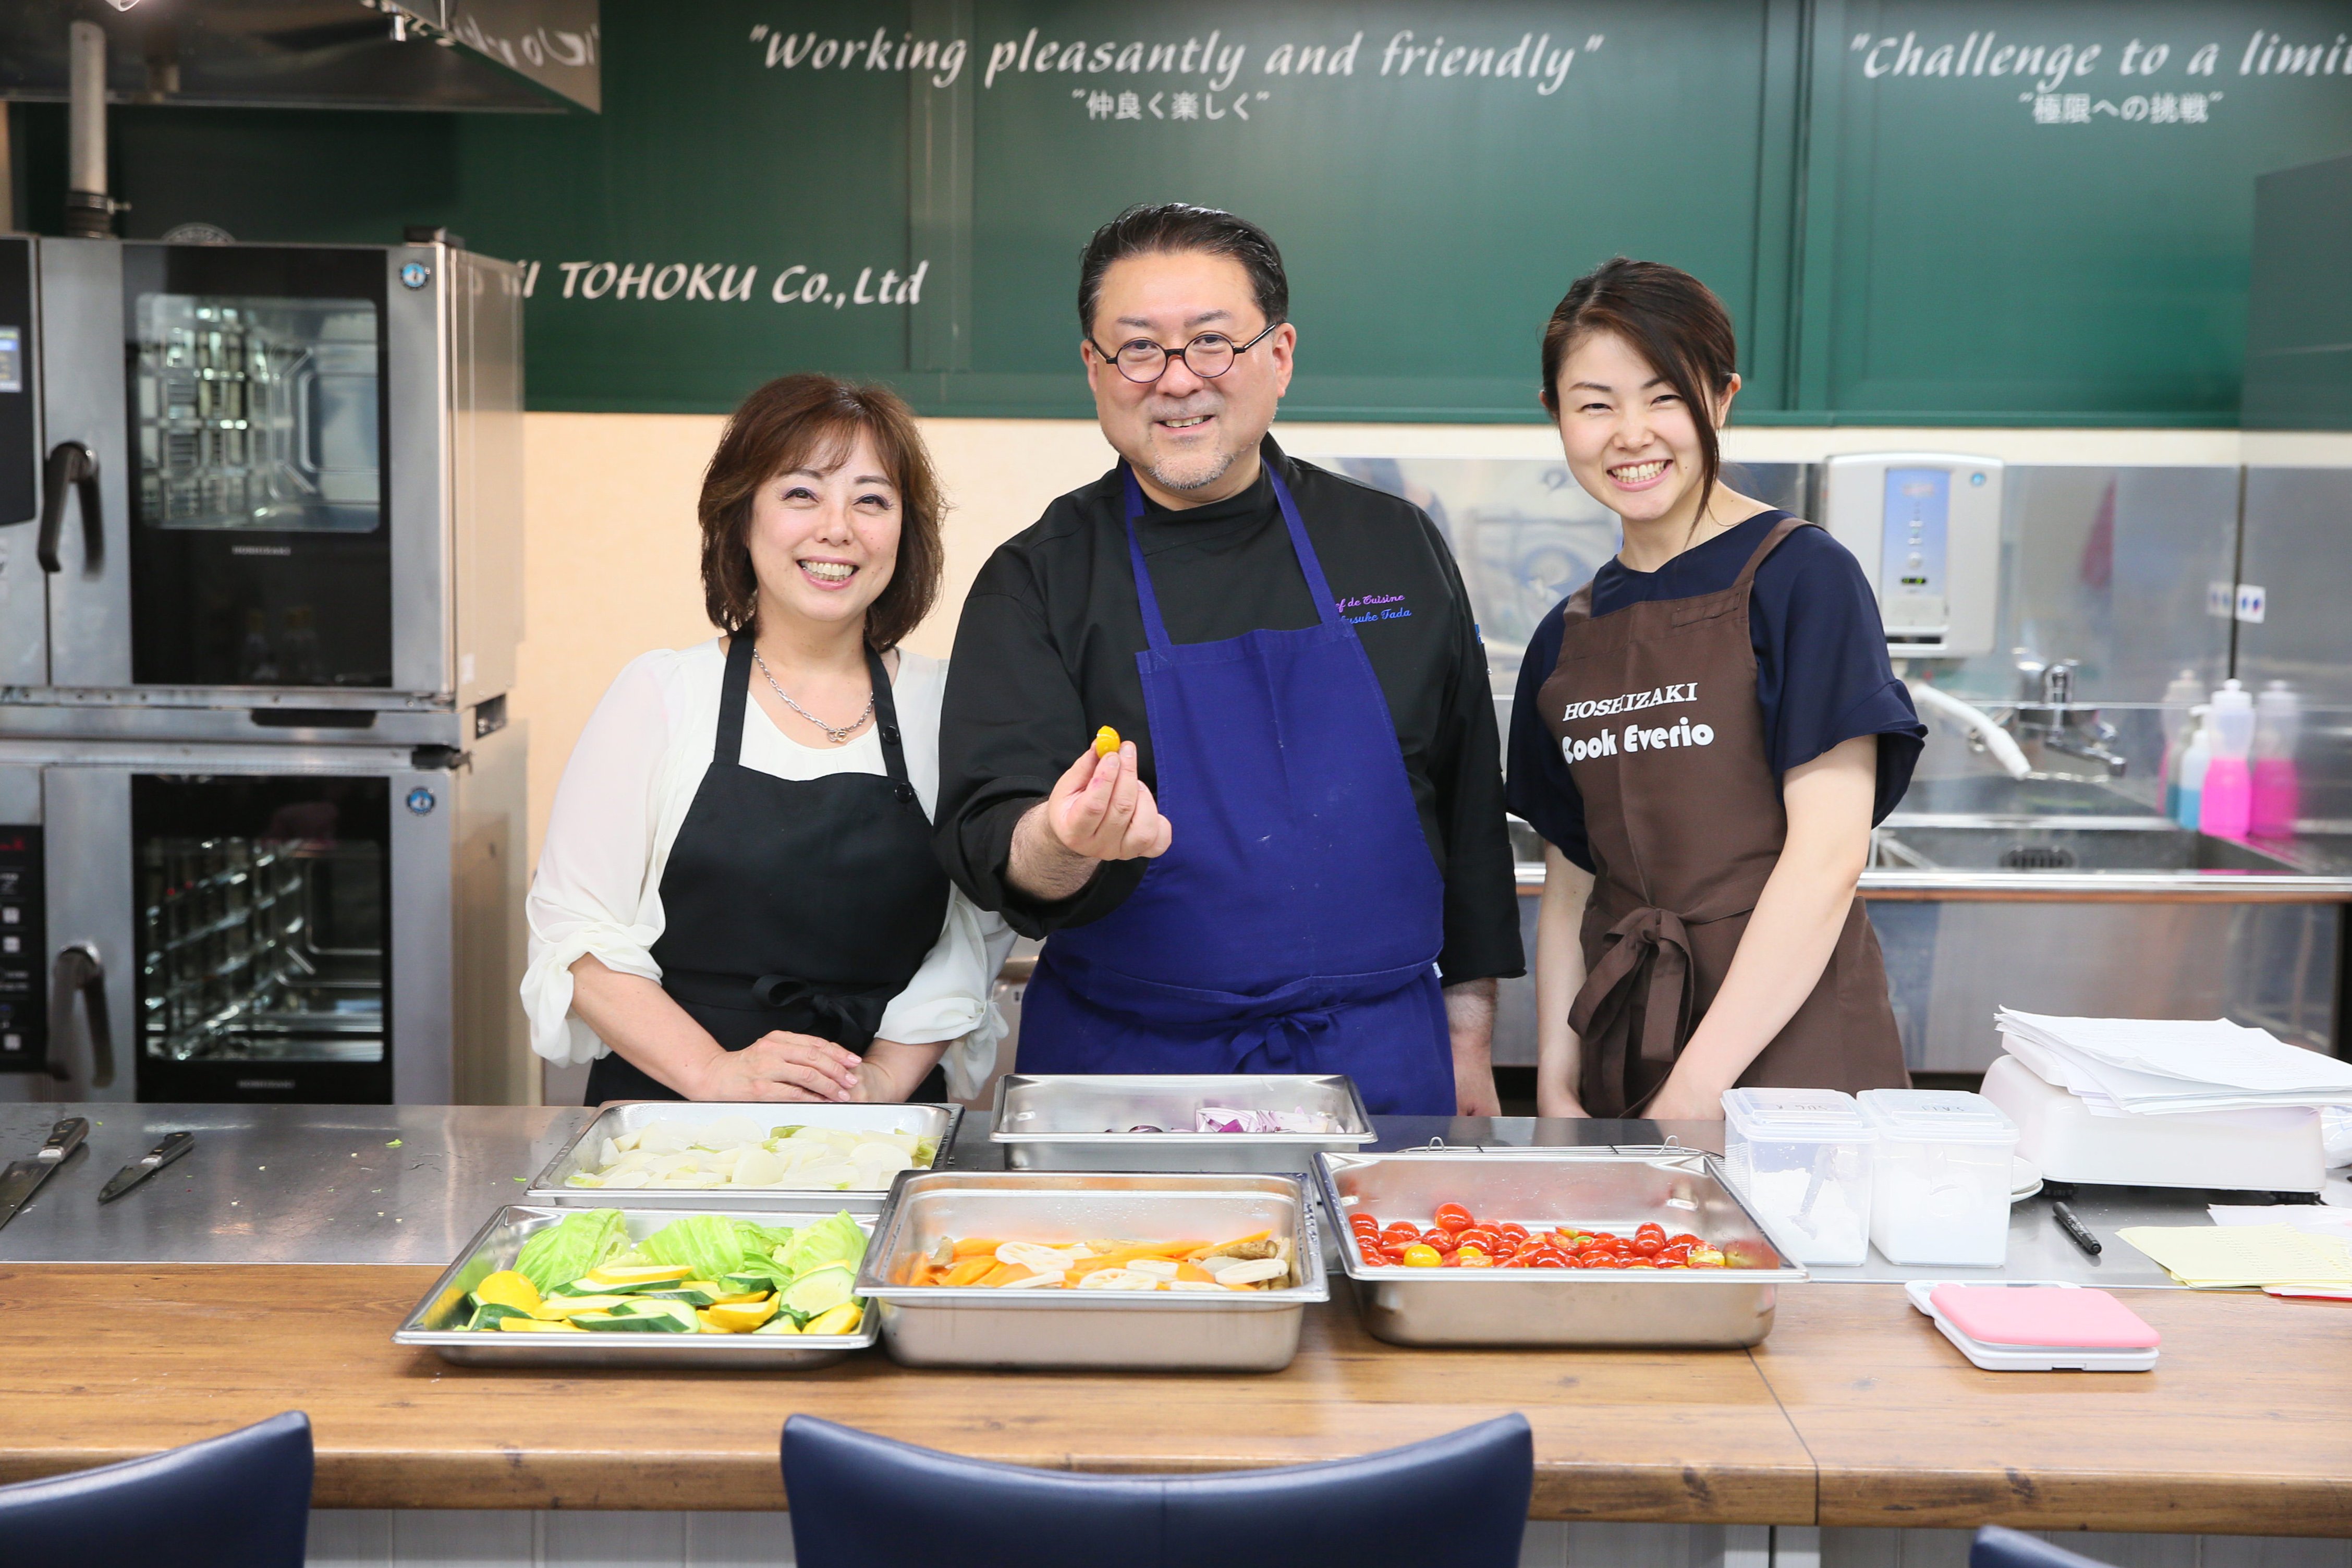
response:
[[[0,1481],[308,1410],[320,1507],[774,1509],[795,1410],[1016,1465],[1348,1458],[1522,1410],[1536,1519],[2352,1533],[2352,1314],[2131,1293],[2154,1373],[1980,1373],[1896,1286],[1780,1293],[1755,1352],[1406,1349],[1338,1300],[1272,1375],[520,1373],[390,1331],[412,1267],[0,1269]]]

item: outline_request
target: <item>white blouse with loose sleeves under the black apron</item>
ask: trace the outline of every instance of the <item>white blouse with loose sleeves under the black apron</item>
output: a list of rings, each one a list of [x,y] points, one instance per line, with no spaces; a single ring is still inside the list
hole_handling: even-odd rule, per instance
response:
[[[522,1009],[532,1051],[550,1063],[590,1063],[609,1048],[572,1013],[572,964],[595,954],[607,969],[661,980],[652,947],[661,938],[661,872],[687,806],[710,766],[727,656],[717,639],[656,649],[630,661],[604,691],[572,748],[539,875],[524,905],[532,926]],[[938,698],[948,665],[898,654],[891,701],[906,771],[924,813],[938,802]],[[849,745],[802,745],[776,729],[760,703],[743,712],[743,766],[776,778],[887,773],[882,741],[868,726]],[[913,1046],[955,1041],[943,1067],[948,1093],[971,1098],[995,1067],[1004,1020],[988,1004],[1014,933],[983,914],[962,889],[948,891],[948,919],[922,969],[882,1009],[882,1039]]]

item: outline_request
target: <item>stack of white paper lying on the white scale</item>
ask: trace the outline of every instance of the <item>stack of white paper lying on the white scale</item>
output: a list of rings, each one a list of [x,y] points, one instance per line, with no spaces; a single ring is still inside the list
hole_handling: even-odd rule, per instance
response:
[[[2227,1018],[2046,1018],[2002,1009],[2002,1044],[2098,1117],[2352,1105],[2352,1063]]]

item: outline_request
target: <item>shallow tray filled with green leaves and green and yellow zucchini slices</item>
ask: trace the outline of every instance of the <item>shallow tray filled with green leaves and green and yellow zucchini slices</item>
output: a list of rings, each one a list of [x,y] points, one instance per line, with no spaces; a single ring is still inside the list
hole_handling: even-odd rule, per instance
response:
[[[830,1366],[875,1342],[875,1218],[501,1208],[395,1345],[463,1366]]]

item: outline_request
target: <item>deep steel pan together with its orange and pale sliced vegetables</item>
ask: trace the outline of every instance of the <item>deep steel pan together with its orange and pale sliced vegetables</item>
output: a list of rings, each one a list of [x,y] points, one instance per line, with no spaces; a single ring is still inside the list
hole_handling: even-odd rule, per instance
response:
[[[908,1366],[1279,1371],[1331,1300],[1298,1175],[901,1175],[858,1269]]]

